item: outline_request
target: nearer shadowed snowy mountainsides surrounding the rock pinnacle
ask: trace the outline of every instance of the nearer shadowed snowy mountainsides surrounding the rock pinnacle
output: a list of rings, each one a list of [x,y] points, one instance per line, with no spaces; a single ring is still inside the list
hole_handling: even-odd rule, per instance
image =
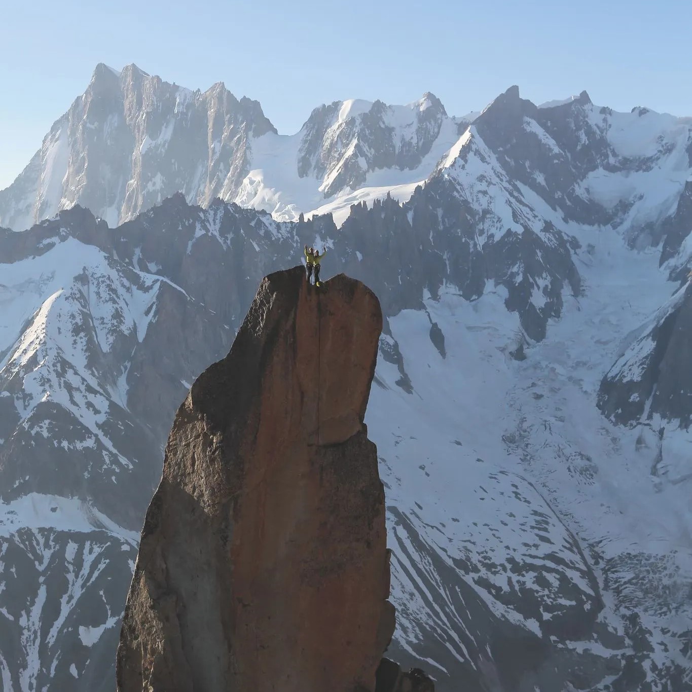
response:
[[[406,203],[338,224],[177,194],[118,228],[75,207],[1,232],[3,689],[112,689],[173,412],[316,243],[386,316],[366,421],[397,659],[442,692],[692,690],[691,141],[510,89]],[[418,161],[397,151],[390,182]]]

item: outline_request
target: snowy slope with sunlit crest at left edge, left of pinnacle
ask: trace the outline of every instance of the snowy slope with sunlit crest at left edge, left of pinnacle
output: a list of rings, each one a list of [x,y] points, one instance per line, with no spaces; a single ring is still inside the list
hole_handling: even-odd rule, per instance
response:
[[[15,399],[20,420],[50,435],[40,416],[28,421],[40,403],[53,403],[71,412],[84,431],[82,439],[65,444],[101,448],[115,473],[131,467],[103,429],[111,399],[125,406],[122,375],[129,363],[108,374],[100,366],[116,340],[145,338],[160,280],[123,275],[97,248],[70,238],[39,257],[4,265],[3,282],[0,353],[6,355],[0,373],[21,381],[21,401]],[[85,320],[90,330],[82,328]]]

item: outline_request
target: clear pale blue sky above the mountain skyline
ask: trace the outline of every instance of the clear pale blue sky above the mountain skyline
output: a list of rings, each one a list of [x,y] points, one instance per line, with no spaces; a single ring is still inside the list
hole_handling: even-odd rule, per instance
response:
[[[512,84],[540,103],[586,89],[597,104],[692,116],[680,0],[33,0],[0,10],[0,189],[86,89],[98,62],[136,63],[192,89],[223,81],[281,132],[346,98],[448,113]]]

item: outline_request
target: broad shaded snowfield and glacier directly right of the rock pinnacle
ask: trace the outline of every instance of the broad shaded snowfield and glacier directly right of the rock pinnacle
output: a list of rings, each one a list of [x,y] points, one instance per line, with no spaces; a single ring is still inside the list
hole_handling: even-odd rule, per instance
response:
[[[430,644],[438,639],[452,657],[474,661],[491,686],[499,651],[459,610],[470,587],[491,612],[523,619],[558,649],[591,650],[600,683],[589,689],[610,689],[603,685],[615,676],[606,671],[618,670],[617,659],[634,665],[639,652],[626,641],[633,622],[651,653],[639,663],[644,680],[620,680],[622,689],[691,689],[692,468],[680,451],[692,435],[666,428],[668,459],[684,468],[654,476],[656,424],[623,428],[595,406],[623,343],[675,289],[656,251],[632,252],[612,229],[568,230],[594,246],[578,255],[583,295],[567,301],[545,340],[527,345],[524,361],[510,356],[521,329],[502,291],[469,303],[448,286],[439,300],[424,299],[425,311],[390,318],[412,394],[395,384],[397,367],[379,361],[366,422],[388,484],[397,646],[418,659],[434,649],[431,670],[446,681],[444,648]],[[431,323],[444,335],[444,357]],[[536,571],[513,570],[515,560]],[[566,598],[551,576],[556,564],[569,570]],[[460,565],[463,583],[450,590],[448,572]],[[532,608],[534,599],[550,607]],[[561,610],[576,606],[592,607],[610,636],[554,629]],[[536,668],[536,689],[558,689]],[[673,680],[679,686],[669,687]]]

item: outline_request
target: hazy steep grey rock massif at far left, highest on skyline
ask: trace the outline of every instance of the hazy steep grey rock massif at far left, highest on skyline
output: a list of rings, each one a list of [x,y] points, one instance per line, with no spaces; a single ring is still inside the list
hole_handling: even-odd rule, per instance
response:
[[[206,203],[237,190],[248,142],[275,132],[260,104],[223,84],[190,91],[129,65],[97,66],[15,183],[3,225],[21,230],[75,203],[116,226],[174,192]]]

